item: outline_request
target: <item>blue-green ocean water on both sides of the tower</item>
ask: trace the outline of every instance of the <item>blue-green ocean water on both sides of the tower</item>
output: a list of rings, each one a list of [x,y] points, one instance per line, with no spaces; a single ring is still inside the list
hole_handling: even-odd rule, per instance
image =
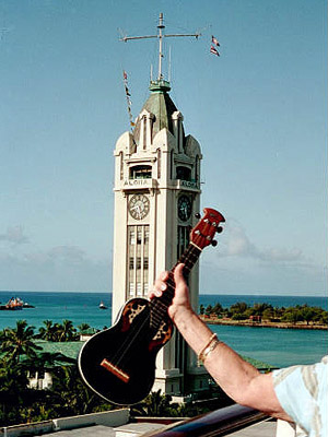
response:
[[[112,324],[112,295],[109,293],[49,293],[20,292],[15,294],[35,308],[21,311],[0,311],[0,330],[13,328],[16,320],[26,320],[36,330],[44,320],[61,322],[71,320],[74,327],[82,322],[103,329]],[[0,292],[0,302],[5,304],[14,294]],[[108,309],[99,309],[101,302]],[[314,296],[263,296],[263,295],[200,295],[199,304],[204,307],[219,302],[230,307],[237,302],[248,305],[268,303],[274,307],[288,307],[307,304],[328,308],[325,297]],[[276,367],[293,364],[311,364],[328,353],[328,331],[306,331],[298,329],[248,328],[211,326],[218,336],[242,355],[269,363]]]

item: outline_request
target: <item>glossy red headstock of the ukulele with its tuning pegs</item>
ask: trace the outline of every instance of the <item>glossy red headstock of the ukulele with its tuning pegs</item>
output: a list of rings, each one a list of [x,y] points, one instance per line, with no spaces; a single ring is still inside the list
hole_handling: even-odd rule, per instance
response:
[[[215,233],[223,231],[220,223],[225,222],[224,216],[215,210],[204,208],[203,213],[203,217],[190,233],[190,243],[199,247],[199,249],[203,249],[214,243],[213,237]]]

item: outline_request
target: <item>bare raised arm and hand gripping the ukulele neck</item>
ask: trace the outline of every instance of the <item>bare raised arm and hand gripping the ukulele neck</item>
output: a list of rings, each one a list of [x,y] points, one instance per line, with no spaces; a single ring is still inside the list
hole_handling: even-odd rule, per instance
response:
[[[191,308],[183,268],[184,264],[178,264],[174,271],[176,291],[168,307],[168,315],[187,343],[199,355],[209,343],[212,332]],[[150,294],[151,298],[165,293],[167,279],[168,273],[163,273],[156,280],[154,291]],[[260,374],[225,343],[219,342],[206,356],[204,366],[235,402],[261,410],[274,417],[292,421],[278,401],[271,374]]]

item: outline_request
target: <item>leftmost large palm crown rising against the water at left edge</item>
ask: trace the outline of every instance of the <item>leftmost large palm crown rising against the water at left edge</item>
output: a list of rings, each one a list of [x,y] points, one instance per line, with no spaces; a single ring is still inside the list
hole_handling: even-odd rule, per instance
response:
[[[9,363],[17,364],[22,355],[36,357],[39,347],[34,342],[34,327],[28,327],[26,320],[17,320],[16,328],[3,330],[0,351]]]

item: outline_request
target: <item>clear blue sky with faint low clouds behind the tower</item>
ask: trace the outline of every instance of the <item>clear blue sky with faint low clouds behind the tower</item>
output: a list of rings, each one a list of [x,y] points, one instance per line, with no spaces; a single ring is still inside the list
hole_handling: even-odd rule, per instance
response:
[[[112,291],[113,151],[157,42],[226,217],[201,293],[327,294],[324,0],[0,0],[0,290]],[[209,52],[211,35],[221,43]],[[167,69],[165,70],[167,74]]]

